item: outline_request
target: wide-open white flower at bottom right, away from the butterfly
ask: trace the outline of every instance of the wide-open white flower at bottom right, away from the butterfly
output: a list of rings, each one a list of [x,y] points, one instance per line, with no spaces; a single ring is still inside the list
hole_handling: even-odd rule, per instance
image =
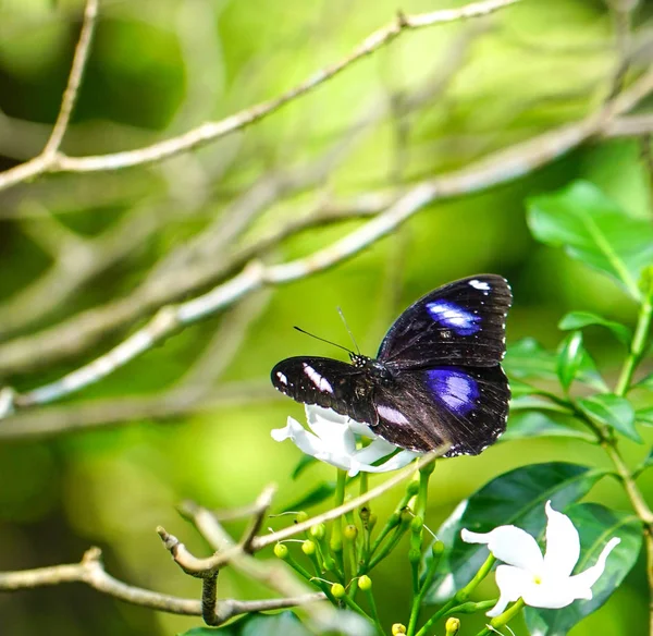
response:
[[[515,526],[500,526],[491,533],[478,534],[463,529],[468,543],[486,543],[496,559],[508,565],[496,568],[498,602],[489,616],[498,616],[509,602],[519,598],[533,608],[565,608],[576,599],[591,599],[592,586],[605,568],[607,555],[620,539],[613,537],[599,555],[596,563],[571,576],[580,556],[580,538],[571,519],[546,502],[546,553],[533,537]]]

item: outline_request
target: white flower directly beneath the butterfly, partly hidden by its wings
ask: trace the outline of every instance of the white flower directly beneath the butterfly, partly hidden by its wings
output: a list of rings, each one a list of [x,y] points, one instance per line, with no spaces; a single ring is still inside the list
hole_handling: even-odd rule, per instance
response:
[[[271,431],[272,438],[278,442],[289,439],[307,455],[347,470],[350,477],[361,470],[364,473],[396,470],[419,455],[403,450],[379,466],[372,466],[379,460],[394,453],[397,447],[374,435],[366,424],[338,415],[330,408],[309,404],[305,408],[308,427],[312,432],[306,430],[296,419],[288,417],[285,428]],[[360,437],[369,438],[372,442],[367,447],[357,448]]]

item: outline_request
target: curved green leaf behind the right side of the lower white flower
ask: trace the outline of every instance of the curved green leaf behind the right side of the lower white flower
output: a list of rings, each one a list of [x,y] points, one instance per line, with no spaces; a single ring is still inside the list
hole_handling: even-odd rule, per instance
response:
[[[605,571],[592,586],[590,600],[574,601],[558,610],[526,609],[531,634],[565,636],[574,625],[597,610],[634,565],[642,545],[642,525],[636,515],[614,512],[599,503],[580,503],[565,511],[580,534],[580,560],[575,573],[591,567],[612,537],[621,542],[611,552]]]

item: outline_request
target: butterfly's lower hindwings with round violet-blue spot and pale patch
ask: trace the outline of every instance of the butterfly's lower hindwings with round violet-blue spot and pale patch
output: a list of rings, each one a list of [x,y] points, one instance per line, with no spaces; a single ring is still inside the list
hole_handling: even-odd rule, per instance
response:
[[[374,391],[374,432],[420,452],[449,444],[445,457],[478,455],[504,432],[510,390],[494,367],[404,371]]]

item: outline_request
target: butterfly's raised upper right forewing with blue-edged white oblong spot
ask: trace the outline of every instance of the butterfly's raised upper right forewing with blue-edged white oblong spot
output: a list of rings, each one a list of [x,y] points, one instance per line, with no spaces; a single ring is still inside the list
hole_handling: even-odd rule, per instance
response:
[[[378,359],[394,370],[438,365],[493,367],[505,354],[513,301],[507,281],[480,274],[434,290],[390,328]]]

